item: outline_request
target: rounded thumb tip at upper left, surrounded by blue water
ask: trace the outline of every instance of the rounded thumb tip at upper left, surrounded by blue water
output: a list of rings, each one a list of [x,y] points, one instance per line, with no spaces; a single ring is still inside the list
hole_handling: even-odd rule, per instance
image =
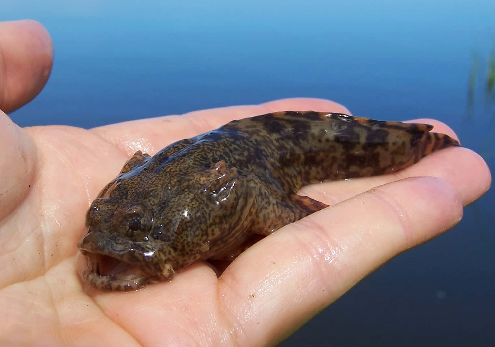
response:
[[[53,59],[51,39],[32,20],[0,23],[0,109],[12,112],[40,93]]]

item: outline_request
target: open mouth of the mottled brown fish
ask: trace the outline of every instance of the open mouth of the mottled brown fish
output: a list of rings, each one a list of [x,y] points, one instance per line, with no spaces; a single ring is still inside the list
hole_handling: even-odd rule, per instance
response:
[[[160,282],[139,266],[123,260],[89,251],[83,254],[88,262],[83,278],[100,291],[132,291]]]

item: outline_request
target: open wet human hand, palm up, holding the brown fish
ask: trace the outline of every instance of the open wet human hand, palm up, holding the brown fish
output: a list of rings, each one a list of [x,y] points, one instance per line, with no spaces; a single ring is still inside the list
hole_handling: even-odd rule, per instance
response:
[[[4,112],[39,93],[52,55],[40,24],[0,23]],[[491,184],[478,154],[448,148],[394,175],[305,187],[331,207],[258,242],[219,277],[200,262],[134,292],[83,285],[76,243],[86,210],[136,150],[154,154],[232,119],[307,109],[348,112],[283,99],[90,130],[21,129],[0,112],[0,345],[273,346],[396,254],[454,226]],[[415,121],[455,137],[438,121]]]

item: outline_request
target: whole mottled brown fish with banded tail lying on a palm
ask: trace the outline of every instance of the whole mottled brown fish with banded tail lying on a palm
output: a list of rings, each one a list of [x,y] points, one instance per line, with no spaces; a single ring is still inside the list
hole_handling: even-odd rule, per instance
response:
[[[328,207],[306,185],[394,173],[460,144],[432,125],[282,111],[233,120],[150,156],[137,151],[91,203],[78,248],[101,291],[171,280],[193,262],[234,259]]]

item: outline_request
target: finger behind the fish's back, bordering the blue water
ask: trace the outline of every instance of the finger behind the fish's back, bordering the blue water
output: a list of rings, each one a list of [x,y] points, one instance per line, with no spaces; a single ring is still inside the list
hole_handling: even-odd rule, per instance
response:
[[[281,110],[315,110],[348,113],[346,107],[324,99],[281,99],[260,105],[230,106],[141,119],[93,129],[127,155],[137,150],[154,154],[165,146],[220,127],[233,120]],[[132,129],[132,131],[130,131]]]

